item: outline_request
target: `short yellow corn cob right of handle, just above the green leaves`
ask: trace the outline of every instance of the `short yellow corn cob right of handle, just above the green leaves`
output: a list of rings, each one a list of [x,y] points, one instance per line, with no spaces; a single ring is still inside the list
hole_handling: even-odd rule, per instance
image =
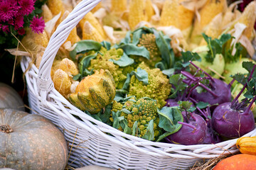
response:
[[[88,21],[85,21],[85,25],[82,28],[82,40],[95,40],[102,42],[105,38],[99,33],[99,31],[92,26]]]

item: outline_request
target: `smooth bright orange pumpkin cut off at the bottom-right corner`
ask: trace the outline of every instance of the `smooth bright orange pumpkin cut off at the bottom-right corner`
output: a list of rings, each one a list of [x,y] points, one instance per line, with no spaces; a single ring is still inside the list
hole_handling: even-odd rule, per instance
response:
[[[256,169],[256,156],[235,154],[218,162],[213,170],[249,170]]]

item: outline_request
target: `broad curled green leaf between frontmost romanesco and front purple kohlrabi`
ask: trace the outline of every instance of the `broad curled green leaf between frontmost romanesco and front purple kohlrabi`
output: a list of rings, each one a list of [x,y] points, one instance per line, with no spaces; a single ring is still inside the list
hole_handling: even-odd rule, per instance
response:
[[[177,132],[181,128],[179,122],[183,122],[183,116],[178,107],[166,107],[157,110],[159,114],[159,127],[167,132]]]

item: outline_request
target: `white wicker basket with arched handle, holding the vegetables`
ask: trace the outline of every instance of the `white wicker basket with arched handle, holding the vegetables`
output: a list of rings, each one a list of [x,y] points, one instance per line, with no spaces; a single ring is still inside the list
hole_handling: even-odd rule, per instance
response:
[[[151,142],[127,135],[75,108],[54,89],[50,69],[60,45],[83,16],[99,2],[100,0],[81,1],[53,33],[39,70],[32,65],[26,72],[31,113],[43,115],[63,129],[71,150],[69,165],[80,167],[95,164],[114,169],[188,169],[198,160],[238,152],[235,147],[236,139],[215,145],[184,146]],[[30,62],[29,57],[23,57],[23,72]],[[254,135],[256,129],[245,136]]]

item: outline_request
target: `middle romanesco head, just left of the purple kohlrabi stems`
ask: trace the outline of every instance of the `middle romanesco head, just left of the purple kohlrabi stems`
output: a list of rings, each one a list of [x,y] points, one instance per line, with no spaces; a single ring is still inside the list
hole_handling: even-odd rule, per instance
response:
[[[162,108],[166,104],[166,99],[171,93],[171,84],[169,79],[160,69],[150,69],[144,62],[139,64],[141,69],[148,73],[149,83],[147,85],[139,81],[135,75],[131,77],[129,83],[128,96],[136,96],[137,98],[149,97],[157,101],[157,107]]]

